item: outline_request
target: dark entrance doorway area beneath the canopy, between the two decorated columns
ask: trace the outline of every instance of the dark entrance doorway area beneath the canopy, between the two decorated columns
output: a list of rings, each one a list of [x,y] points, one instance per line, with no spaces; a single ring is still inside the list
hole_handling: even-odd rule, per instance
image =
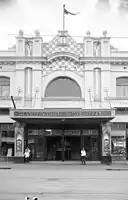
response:
[[[98,129],[33,129],[28,134],[28,146],[32,160],[80,160],[83,147],[88,160],[100,160]]]

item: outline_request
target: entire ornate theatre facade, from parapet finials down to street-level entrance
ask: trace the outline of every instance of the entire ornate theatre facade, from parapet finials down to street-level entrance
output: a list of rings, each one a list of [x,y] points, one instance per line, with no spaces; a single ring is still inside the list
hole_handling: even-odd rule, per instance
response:
[[[84,147],[89,161],[126,159],[128,59],[110,41],[19,31],[0,53],[1,157],[23,162],[29,147],[32,160],[80,160]]]

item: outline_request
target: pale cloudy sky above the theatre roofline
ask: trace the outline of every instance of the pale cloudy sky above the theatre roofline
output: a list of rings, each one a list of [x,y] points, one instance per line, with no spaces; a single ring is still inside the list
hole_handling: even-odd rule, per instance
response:
[[[63,4],[78,15],[65,16],[65,29],[80,42],[87,30],[92,36],[102,36],[107,30],[112,44],[128,50],[128,9],[121,6],[128,0],[0,0],[0,50],[15,44],[15,36],[22,29],[32,35],[38,29],[47,42],[63,27]],[[82,36],[82,37],[78,37]]]

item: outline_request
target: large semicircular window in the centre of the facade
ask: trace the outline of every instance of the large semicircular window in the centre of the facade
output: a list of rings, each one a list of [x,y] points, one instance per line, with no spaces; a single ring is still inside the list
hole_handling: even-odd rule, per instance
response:
[[[81,97],[81,90],[74,80],[59,77],[47,86],[45,97]]]

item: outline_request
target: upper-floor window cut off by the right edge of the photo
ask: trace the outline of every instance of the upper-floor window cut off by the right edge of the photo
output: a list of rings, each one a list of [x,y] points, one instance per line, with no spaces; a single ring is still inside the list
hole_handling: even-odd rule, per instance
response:
[[[120,77],[116,79],[116,96],[128,97],[128,77]]]

